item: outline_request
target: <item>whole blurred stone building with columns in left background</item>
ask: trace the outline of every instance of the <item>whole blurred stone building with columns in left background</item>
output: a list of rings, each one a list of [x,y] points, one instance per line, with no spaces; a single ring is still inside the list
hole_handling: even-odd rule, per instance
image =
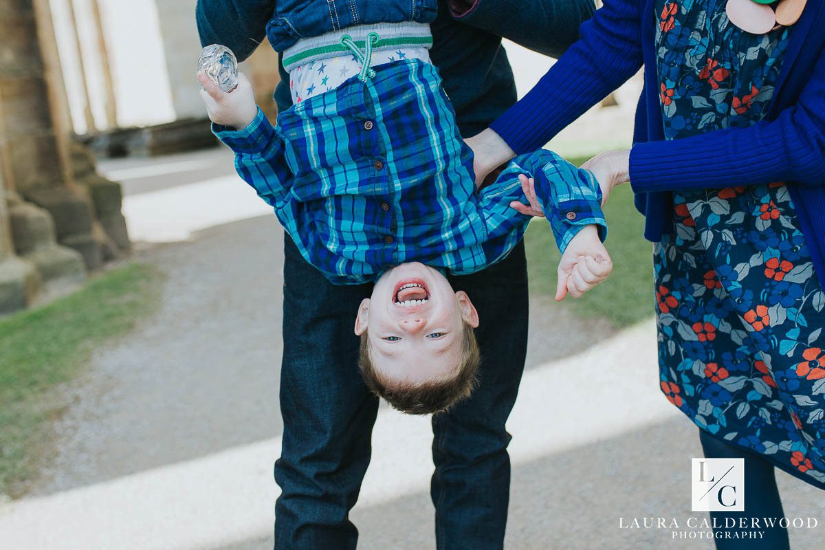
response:
[[[130,251],[120,184],[97,173],[83,143],[98,153],[125,143],[114,149],[153,155],[215,141],[194,78],[200,44],[192,0],[0,0],[0,37],[0,313],[7,313]],[[275,115],[275,54],[261,47],[242,70]],[[145,101],[148,92],[167,94],[167,106]]]

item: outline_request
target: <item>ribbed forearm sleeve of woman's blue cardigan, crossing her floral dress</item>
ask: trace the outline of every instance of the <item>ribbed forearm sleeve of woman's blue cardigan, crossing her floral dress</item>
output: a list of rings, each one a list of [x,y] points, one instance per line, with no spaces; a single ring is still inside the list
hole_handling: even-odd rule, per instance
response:
[[[637,193],[758,186],[793,179],[780,132],[728,129],[636,143],[630,185]]]

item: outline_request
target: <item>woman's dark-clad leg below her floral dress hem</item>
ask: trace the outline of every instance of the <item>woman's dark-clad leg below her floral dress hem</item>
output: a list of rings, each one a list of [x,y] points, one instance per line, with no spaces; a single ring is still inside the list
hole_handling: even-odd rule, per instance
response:
[[[741,518],[748,518],[748,524],[750,524],[750,518],[776,518],[778,522],[779,518],[785,517],[779,489],[776,487],[773,464],[756,453],[727,444],[705,430],[699,430],[699,439],[705,451],[705,458],[745,459],[745,511],[710,512],[710,518],[716,524],[724,525],[725,519],[728,518],[736,522]],[[762,529],[765,531],[765,536],[757,540],[716,538],[716,548],[717,550],[790,550],[788,529],[778,524],[773,528]]]

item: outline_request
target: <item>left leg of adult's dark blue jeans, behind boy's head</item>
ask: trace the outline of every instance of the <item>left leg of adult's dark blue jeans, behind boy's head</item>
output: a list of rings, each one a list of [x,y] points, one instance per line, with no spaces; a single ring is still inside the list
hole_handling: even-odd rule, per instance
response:
[[[284,435],[275,480],[275,545],[356,548],[349,520],[370,463],[378,400],[358,372],[352,327],[370,285],[337,286],[284,244]]]

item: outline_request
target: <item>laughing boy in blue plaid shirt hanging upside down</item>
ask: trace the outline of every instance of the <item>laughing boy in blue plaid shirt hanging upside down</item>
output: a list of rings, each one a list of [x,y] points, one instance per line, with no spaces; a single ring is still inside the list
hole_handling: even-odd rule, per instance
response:
[[[471,393],[479,316],[445,275],[506,257],[531,219],[519,209],[546,214],[563,252],[557,300],[581,296],[612,270],[591,172],[541,149],[476,189],[430,45],[419,23],[299,40],[283,57],[294,106],[275,127],[243,74],[229,93],[198,74],[214,134],[304,258],[333,284],[375,281],[356,314],[361,373],[414,414]]]

